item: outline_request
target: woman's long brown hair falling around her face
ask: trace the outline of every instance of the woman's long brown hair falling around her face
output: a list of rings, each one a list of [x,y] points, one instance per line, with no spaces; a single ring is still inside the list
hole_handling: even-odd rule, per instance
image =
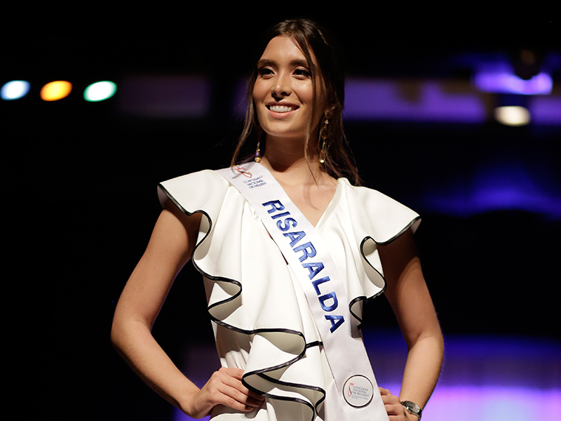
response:
[[[268,32],[262,42],[261,53],[264,51],[269,41],[275,36],[290,36],[296,41],[311,69],[311,78],[313,86],[318,86],[318,81],[323,80],[325,86],[326,103],[329,105],[329,124],[325,126],[323,134],[325,136],[325,161],[323,167],[325,172],[334,178],[346,177],[354,185],[360,185],[360,178],[356,163],[354,162],[349,143],[346,140],[343,128],[343,107],[344,107],[344,71],[341,61],[337,55],[334,45],[328,39],[325,29],[319,27],[316,22],[306,19],[285,20],[278,23]],[[312,54],[318,63],[317,68],[312,60]],[[257,63],[257,60],[255,61]],[[257,115],[255,112],[255,102],[253,101],[253,86],[257,80],[257,66],[254,67],[248,83],[248,105],[245,112],[245,121],[243,131],[240,135],[236,149],[231,159],[231,165],[234,166],[238,162],[243,146],[248,140],[252,141],[252,145],[257,145],[260,140],[261,149],[264,151],[263,131],[259,127]],[[316,90],[314,90],[314,95]],[[314,98],[315,99],[315,98]],[[315,104],[315,100],[314,100]],[[312,114],[315,115],[315,114]],[[323,119],[322,119],[323,122]],[[311,133],[315,128],[309,127],[308,136],[304,145],[304,155],[307,160],[307,152],[309,142],[311,141]],[[320,150],[319,138],[314,145]],[[255,146],[253,146],[255,147]],[[241,161],[250,161],[253,156],[247,156]]]

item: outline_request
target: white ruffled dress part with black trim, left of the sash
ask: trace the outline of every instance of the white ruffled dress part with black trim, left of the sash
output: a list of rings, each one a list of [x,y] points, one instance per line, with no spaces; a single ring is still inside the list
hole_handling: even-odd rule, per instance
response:
[[[255,210],[215,171],[162,182],[158,194],[163,206],[205,215],[191,261],[203,275],[222,366],[243,368],[244,384],[281,404],[287,419],[313,420],[329,384],[325,357],[305,298]],[[227,408],[212,415],[219,411]]]

